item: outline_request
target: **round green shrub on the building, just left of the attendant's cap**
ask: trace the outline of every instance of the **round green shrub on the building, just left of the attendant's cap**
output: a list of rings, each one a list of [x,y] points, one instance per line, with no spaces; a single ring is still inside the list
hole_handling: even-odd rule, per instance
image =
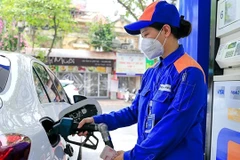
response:
[[[115,33],[113,30],[113,24],[107,23],[91,23],[89,24],[89,43],[94,48],[103,48],[103,51],[112,51],[113,39]]]

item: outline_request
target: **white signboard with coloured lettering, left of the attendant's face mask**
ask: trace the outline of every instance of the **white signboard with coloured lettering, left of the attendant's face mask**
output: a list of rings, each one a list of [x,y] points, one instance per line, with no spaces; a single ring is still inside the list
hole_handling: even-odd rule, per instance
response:
[[[117,74],[142,75],[145,70],[146,59],[143,54],[117,53]]]

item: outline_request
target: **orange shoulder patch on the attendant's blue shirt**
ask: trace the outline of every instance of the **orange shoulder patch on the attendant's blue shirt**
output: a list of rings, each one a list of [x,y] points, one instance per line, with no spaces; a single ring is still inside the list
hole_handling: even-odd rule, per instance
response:
[[[180,57],[178,60],[174,62],[174,66],[176,67],[178,73],[181,73],[184,69],[188,67],[196,67],[200,69],[204,76],[204,82],[206,83],[206,76],[202,69],[202,67],[188,54],[184,54],[182,57]]]

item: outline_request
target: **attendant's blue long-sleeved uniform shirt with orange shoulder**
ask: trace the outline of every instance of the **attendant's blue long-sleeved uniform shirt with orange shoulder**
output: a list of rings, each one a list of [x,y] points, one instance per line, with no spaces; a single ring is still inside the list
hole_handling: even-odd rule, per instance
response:
[[[154,127],[145,132],[149,115]],[[202,123],[207,105],[207,86],[200,65],[183,47],[148,69],[130,107],[94,117],[109,130],[138,123],[137,144],[124,160],[203,160]]]

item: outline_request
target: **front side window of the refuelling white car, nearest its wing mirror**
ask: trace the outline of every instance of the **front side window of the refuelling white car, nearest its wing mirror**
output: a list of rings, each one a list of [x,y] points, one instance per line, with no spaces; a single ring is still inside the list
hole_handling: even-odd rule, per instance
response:
[[[50,102],[60,102],[61,98],[60,98],[58,91],[53,83],[54,77],[51,77],[52,75],[50,76],[48,74],[48,72],[46,71],[46,69],[38,63],[34,63],[33,67],[47,92]]]

